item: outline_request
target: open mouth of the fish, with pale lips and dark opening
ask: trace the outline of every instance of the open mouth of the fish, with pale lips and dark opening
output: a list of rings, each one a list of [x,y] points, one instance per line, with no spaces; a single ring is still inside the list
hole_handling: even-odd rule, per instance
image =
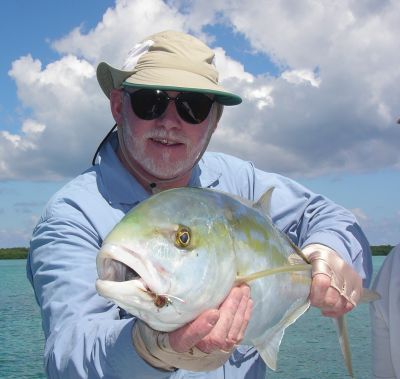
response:
[[[166,283],[162,280],[159,270],[132,249],[106,243],[97,255],[96,264],[99,277],[96,287],[100,294],[108,297],[107,283],[113,283],[112,288],[115,288],[119,283],[130,282],[130,288],[135,289],[136,293],[139,290],[149,296],[149,300],[162,303],[158,294],[165,292],[163,289],[166,288]],[[155,278],[159,281],[156,282]]]

